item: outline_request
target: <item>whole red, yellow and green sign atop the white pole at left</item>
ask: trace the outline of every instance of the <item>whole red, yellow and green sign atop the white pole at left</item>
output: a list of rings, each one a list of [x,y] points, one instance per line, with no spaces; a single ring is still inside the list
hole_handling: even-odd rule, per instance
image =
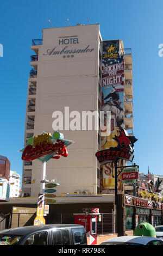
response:
[[[51,133],[42,132],[41,135],[30,137],[25,148],[19,150],[23,161],[35,159],[47,162],[49,159],[59,159],[60,156],[68,155],[67,147],[72,141],[64,139],[62,133],[55,131]]]

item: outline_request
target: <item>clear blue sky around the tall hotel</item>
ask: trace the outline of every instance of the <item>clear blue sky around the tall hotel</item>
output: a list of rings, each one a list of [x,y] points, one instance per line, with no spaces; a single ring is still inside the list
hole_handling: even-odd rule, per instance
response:
[[[23,147],[27,83],[32,39],[41,38],[41,29],[99,23],[103,40],[122,39],[132,48],[134,78],[134,162],[140,172],[163,175],[162,93],[163,2],[160,0],[35,0],[1,1],[0,57],[1,143],[0,155],[7,156],[11,170],[22,175],[18,149]]]

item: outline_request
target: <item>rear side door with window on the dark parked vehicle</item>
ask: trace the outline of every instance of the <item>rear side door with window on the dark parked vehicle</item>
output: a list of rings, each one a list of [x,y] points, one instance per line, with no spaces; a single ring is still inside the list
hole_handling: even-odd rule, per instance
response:
[[[52,230],[53,245],[70,245],[70,233],[68,229]]]

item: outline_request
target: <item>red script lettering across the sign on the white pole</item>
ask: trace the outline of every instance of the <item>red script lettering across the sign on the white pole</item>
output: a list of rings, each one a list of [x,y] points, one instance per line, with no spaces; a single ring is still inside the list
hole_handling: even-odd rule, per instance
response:
[[[60,141],[57,139],[57,143],[52,144],[47,141],[43,141],[42,143],[37,143],[35,147],[33,145],[27,145],[22,154],[23,161],[31,161],[37,159],[38,157],[54,154],[57,156],[53,156],[52,158],[58,159],[61,156],[66,157],[68,155],[68,151],[66,146],[64,145],[64,141]]]

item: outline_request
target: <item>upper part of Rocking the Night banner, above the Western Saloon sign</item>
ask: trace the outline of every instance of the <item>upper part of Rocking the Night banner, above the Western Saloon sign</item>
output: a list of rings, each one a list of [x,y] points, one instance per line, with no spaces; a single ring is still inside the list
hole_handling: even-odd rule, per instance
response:
[[[117,142],[112,138],[124,128],[124,56],[120,56],[119,50],[119,40],[103,41],[101,111],[105,114],[110,111],[111,121],[109,127],[106,124],[110,135],[101,136],[101,150],[116,147]]]

